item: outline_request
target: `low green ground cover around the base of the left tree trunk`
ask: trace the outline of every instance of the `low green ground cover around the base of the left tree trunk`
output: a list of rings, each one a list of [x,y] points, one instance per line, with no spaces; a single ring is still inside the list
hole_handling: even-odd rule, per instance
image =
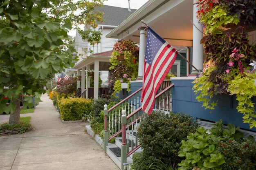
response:
[[[31,117],[20,117],[20,123],[19,124],[8,124],[8,123],[4,123],[4,124],[0,124],[0,132],[3,132],[5,130],[13,130],[13,129],[19,129],[20,133],[24,133],[27,130],[31,130],[32,126],[30,124],[30,119]]]

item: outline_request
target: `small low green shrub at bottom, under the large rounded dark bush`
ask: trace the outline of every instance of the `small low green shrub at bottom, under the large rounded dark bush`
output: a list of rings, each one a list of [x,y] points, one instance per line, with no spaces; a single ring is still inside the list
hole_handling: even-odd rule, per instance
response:
[[[145,152],[135,153],[132,155],[132,165],[133,170],[152,170],[150,165],[155,162],[156,158],[147,155]]]

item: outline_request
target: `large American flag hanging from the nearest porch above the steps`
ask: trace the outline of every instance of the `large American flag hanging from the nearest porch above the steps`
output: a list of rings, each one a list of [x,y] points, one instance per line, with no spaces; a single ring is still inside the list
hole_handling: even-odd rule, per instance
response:
[[[141,92],[142,110],[151,114],[155,95],[177,56],[177,50],[148,27]]]

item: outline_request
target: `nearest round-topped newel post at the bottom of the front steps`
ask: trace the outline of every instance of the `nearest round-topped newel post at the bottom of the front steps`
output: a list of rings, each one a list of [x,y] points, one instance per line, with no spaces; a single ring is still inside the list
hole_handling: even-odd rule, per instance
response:
[[[121,170],[124,170],[124,163],[127,163],[126,110],[122,110],[121,124],[122,124]]]

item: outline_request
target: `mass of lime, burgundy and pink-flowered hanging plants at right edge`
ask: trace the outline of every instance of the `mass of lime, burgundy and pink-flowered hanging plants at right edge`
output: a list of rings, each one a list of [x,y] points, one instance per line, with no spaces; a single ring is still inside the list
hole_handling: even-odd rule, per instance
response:
[[[250,128],[256,127],[256,112],[254,103],[250,100],[255,95],[255,75],[246,73],[250,68],[249,64],[256,60],[256,45],[249,44],[249,36],[245,31],[246,28],[255,26],[256,2],[198,0],[197,3],[200,8],[198,18],[206,28],[201,40],[205,46],[206,62],[215,62],[214,66],[204,69],[193,82],[197,99],[202,102],[203,107],[214,109],[217,103],[212,100],[213,96],[236,95],[237,109],[244,115],[243,121]],[[233,26],[236,26],[234,32],[229,30],[224,33],[224,28]]]

